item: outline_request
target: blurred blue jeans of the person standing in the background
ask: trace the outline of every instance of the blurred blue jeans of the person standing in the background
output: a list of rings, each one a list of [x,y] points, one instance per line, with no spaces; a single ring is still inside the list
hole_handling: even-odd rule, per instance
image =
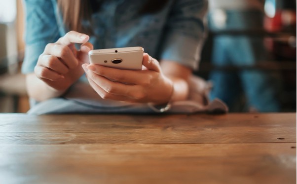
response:
[[[224,27],[214,22],[212,12],[209,14],[209,27],[218,30],[253,30],[261,28],[261,13],[258,11],[225,11]],[[212,62],[215,66],[253,66],[267,60],[263,39],[248,36],[214,37]],[[241,90],[245,93],[249,107],[259,111],[279,111],[278,78],[272,73],[260,70],[243,70],[239,72],[213,71],[210,79],[214,83],[211,99],[220,98],[232,110]]]

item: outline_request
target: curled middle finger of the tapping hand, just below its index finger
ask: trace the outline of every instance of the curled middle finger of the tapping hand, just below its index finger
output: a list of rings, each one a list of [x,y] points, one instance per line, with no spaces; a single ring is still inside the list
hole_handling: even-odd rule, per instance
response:
[[[74,69],[78,65],[78,60],[66,45],[49,43],[45,46],[43,54],[58,57],[70,69]]]

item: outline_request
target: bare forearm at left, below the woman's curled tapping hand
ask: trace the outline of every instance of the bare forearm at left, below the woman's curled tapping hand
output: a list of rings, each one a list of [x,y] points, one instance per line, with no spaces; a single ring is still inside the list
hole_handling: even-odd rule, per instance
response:
[[[59,97],[66,92],[66,89],[58,90],[49,86],[47,83],[37,78],[35,74],[27,74],[26,82],[29,97],[38,102]]]

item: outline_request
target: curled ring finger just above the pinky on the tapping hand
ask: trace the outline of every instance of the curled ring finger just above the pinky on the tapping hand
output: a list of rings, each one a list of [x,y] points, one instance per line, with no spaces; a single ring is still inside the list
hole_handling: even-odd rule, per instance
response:
[[[40,66],[49,68],[58,74],[67,74],[69,69],[57,57],[52,55],[41,55]]]

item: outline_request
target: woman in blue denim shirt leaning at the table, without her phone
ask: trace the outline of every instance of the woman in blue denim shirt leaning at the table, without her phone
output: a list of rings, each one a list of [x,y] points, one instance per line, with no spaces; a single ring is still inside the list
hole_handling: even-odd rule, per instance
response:
[[[207,0],[25,4],[22,72],[32,102],[29,112],[165,111],[169,102],[186,100],[188,77],[198,64]],[[129,46],[145,49],[144,70],[88,64],[94,48]]]

